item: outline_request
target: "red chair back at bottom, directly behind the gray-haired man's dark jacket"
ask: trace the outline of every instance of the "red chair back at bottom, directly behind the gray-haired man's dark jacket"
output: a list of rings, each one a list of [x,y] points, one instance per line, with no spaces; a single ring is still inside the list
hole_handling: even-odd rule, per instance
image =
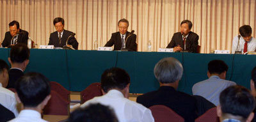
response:
[[[153,105],[152,107],[149,107],[149,109],[156,122],[184,122],[184,118],[165,105]]]

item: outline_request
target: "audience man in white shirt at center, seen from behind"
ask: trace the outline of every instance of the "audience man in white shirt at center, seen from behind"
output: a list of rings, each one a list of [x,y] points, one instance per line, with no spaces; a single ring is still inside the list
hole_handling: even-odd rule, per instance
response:
[[[125,70],[121,68],[110,68],[101,76],[103,96],[88,100],[81,107],[86,107],[90,103],[101,103],[102,105],[113,108],[120,122],[154,121],[149,109],[140,103],[128,99],[129,86],[130,77]]]

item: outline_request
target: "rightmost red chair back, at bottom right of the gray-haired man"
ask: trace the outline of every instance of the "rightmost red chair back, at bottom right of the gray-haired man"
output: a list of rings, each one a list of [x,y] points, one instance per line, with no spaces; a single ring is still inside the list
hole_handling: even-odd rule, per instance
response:
[[[217,116],[217,107],[213,107],[206,111],[202,116],[199,116],[195,119],[195,122],[219,122],[219,118]]]

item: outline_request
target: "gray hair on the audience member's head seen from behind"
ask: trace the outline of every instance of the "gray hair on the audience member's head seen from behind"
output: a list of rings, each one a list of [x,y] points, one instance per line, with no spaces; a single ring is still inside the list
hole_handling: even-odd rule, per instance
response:
[[[156,79],[163,83],[172,83],[180,80],[182,77],[183,67],[174,57],[165,57],[161,59],[154,68]]]

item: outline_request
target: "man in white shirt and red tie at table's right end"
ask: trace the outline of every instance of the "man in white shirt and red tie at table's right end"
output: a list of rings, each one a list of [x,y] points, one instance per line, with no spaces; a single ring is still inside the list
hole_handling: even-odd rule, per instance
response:
[[[241,34],[234,37],[232,42],[232,54],[235,52],[251,52],[256,50],[256,39],[252,37],[252,27],[248,25],[239,28]]]

